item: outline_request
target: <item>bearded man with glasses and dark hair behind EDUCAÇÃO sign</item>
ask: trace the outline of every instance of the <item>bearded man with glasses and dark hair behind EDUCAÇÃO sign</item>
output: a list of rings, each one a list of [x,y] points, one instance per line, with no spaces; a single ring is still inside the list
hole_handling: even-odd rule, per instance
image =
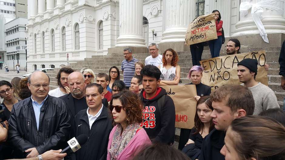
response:
[[[226,54],[232,55],[232,54],[240,54],[240,41],[236,38],[230,39],[228,43],[226,44]],[[269,69],[269,65],[264,65],[265,69]]]

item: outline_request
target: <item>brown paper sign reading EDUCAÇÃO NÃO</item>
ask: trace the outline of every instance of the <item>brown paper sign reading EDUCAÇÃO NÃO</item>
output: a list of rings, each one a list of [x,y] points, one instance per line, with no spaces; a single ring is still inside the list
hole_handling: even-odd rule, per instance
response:
[[[268,86],[265,51],[233,54],[201,60],[205,68],[202,83],[211,87],[212,91],[225,84],[241,84],[237,76],[237,64],[245,59],[252,58],[258,61],[256,81]]]

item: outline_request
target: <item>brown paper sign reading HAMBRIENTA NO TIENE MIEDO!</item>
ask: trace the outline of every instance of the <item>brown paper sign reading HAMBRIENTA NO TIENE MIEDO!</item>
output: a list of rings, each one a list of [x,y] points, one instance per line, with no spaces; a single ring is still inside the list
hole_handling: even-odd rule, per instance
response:
[[[185,34],[187,45],[217,39],[215,13],[210,15],[201,15],[189,24]]]

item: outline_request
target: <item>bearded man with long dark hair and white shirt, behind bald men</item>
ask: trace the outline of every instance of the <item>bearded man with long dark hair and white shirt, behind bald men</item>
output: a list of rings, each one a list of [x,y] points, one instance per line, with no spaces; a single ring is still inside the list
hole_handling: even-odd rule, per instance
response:
[[[67,78],[70,73],[74,72],[73,69],[63,67],[59,70],[59,73],[57,73],[56,79],[57,79],[57,85],[58,88],[55,88],[54,90],[49,91],[50,96],[54,97],[61,97],[68,93],[70,93],[69,87],[68,87],[68,81]]]

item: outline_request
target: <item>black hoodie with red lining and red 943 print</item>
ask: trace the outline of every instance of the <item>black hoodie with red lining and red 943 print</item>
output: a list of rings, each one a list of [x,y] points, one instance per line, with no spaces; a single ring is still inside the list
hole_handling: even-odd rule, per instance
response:
[[[175,106],[173,100],[166,95],[166,90],[161,87],[157,87],[156,95],[151,99],[146,99],[145,94],[145,91],[142,90],[140,97],[144,109],[141,126],[154,143],[172,143],[175,134]],[[159,110],[157,100],[163,95],[165,95],[164,106],[161,106],[161,110]]]

